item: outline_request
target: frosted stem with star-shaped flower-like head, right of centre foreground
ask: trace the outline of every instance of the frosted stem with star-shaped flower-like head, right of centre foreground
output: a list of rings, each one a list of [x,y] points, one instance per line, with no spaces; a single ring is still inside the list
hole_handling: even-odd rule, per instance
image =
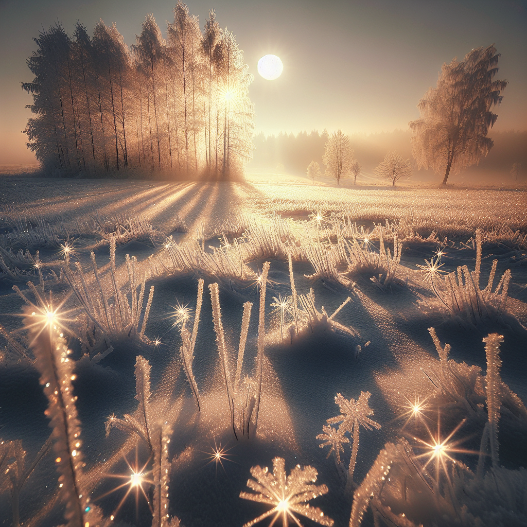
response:
[[[369,415],[373,415],[373,410],[368,405],[368,399],[371,395],[369,392],[360,392],[357,401],[355,399],[349,399],[348,401],[341,394],[337,394],[335,396],[335,404],[338,404],[341,414],[327,419],[329,425],[339,423],[339,433],[344,435],[346,432],[349,432],[353,437],[352,457],[349,460],[348,466],[348,487],[353,485],[353,472],[355,471],[355,464],[357,463],[359,425],[364,426],[367,430],[373,430],[373,428],[379,430],[380,428],[379,423],[372,421],[368,417]]]

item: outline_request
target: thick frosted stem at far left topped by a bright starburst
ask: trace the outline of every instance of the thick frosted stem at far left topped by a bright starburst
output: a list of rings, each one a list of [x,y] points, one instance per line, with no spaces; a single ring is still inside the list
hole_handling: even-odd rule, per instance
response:
[[[30,331],[35,366],[48,400],[46,416],[53,428],[55,466],[60,474],[60,492],[66,503],[64,514],[68,527],[96,525],[101,515],[83,490],[83,456],[81,428],[75,406],[72,380],[73,360],[63,333],[57,327],[54,311],[35,313],[25,309],[24,325]],[[49,316],[48,314],[52,315]]]

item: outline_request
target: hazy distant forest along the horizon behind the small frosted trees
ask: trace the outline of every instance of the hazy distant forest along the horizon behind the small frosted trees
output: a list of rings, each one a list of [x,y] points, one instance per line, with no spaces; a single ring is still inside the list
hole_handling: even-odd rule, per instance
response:
[[[481,170],[494,170],[500,173],[509,172],[513,163],[521,163],[522,171],[527,168],[527,131],[506,131],[489,133],[494,140],[494,147],[490,153],[481,159],[477,167]],[[412,161],[414,169],[416,163],[412,156],[409,130],[395,130],[373,134],[350,134],[349,140],[355,152],[355,157],[363,165],[366,174],[372,174],[377,164],[383,160],[386,152],[396,150],[403,157]],[[252,153],[251,168],[276,171],[280,163],[284,171],[290,174],[305,174],[307,165],[311,161],[319,163],[324,171],[322,157],[324,146],[328,138],[326,130],[319,133],[300,132],[296,136],[292,133],[265,136],[260,133],[253,139],[255,150]]]

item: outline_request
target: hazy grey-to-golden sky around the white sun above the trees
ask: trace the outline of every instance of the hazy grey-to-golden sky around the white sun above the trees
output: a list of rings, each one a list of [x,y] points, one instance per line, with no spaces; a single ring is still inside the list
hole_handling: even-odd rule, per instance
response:
[[[35,162],[21,132],[32,97],[25,60],[32,41],[57,21],[72,34],[115,22],[130,45],[152,13],[166,36],[175,0],[0,0],[0,165]],[[509,81],[495,130],[527,129],[527,0],[189,0],[203,27],[209,9],[232,31],[255,75],[249,96],[256,132],[326,128],[346,133],[407,129],[444,62],[495,44],[496,79]],[[259,76],[261,56],[284,63],[275,81]],[[490,133],[489,135],[492,136]]]

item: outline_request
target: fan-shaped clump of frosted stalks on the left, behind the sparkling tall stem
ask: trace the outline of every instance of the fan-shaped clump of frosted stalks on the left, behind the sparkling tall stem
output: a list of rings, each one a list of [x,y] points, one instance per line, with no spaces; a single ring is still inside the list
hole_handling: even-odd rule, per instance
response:
[[[119,279],[115,268],[115,238],[112,238],[110,241],[110,273],[108,277],[103,278],[100,275],[93,251],[91,252],[90,258],[94,278],[91,281],[84,274],[79,262],[75,262],[76,273],[69,266],[63,266],[66,279],[71,285],[75,296],[79,299],[86,316],[90,320],[91,324],[88,324],[89,330],[90,325],[93,325],[91,334],[90,331],[86,331],[82,335],[84,337],[84,344],[90,349],[94,348],[98,344],[97,341],[100,341],[104,336],[110,339],[117,339],[124,336],[138,337],[141,340],[148,341],[148,338],[144,335],[144,331],[152,305],[154,286],[150,288],[147,305],[144,308],[144,315],[141,317],[143,314],[145,276],[143,275],[138,297],[136,257],[130,258],[126,255],[126,269],[128,270],[128,284],[126,284],[126,287],[130,290],[131,302],[119,286]],[[141,319],[142,325],[140,327]],[[97,335],[97,330],[100,331],[99,335]]]

